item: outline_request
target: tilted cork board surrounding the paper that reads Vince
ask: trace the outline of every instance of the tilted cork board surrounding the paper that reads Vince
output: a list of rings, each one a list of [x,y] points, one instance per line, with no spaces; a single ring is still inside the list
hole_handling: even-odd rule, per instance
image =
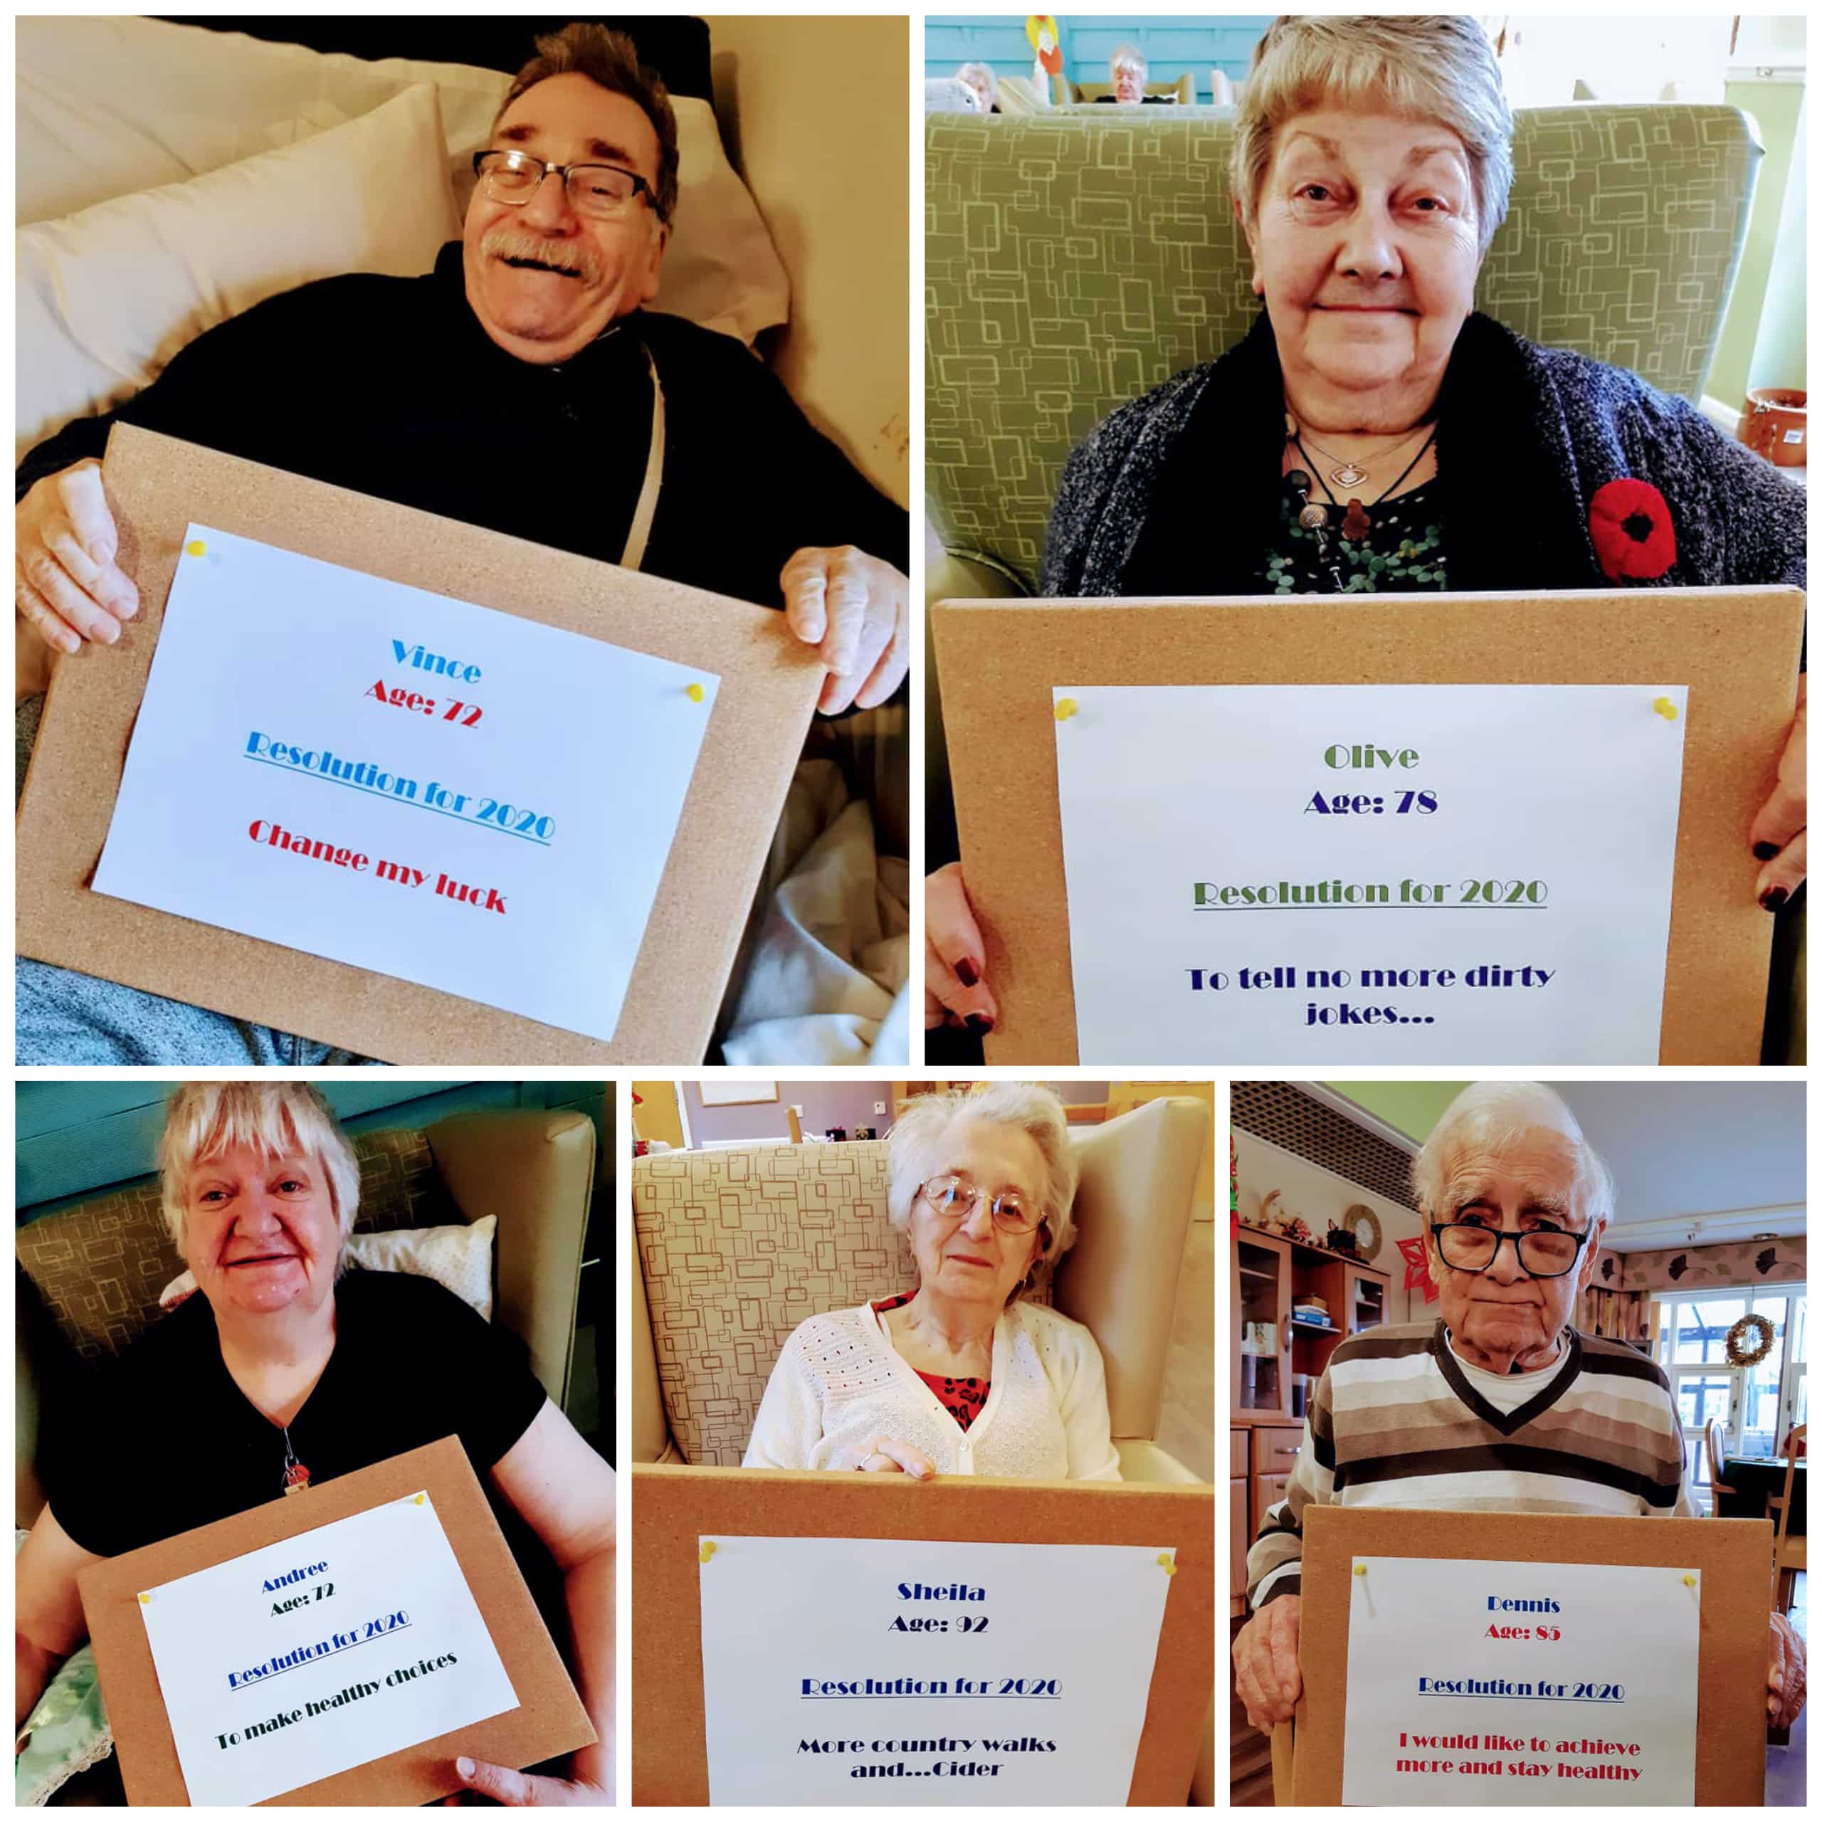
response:
[[[51,680],[16,822],[20,955],[386,1062],[701,1060],[822,687],[776,612],[128,425],[104,481],[140,612]],[[610,1042],[89,891],[191,521],[720,676]],[[601,780],[599,840],[634,787]]]

